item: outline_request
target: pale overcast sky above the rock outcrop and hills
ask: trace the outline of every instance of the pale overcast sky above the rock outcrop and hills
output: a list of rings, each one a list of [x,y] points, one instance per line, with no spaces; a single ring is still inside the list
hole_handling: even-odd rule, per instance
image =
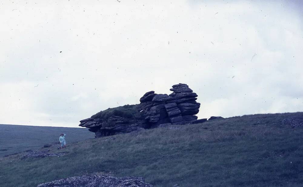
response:
[[[178,83],[198,118],[303,111],[300,1],[0,3],[0,124],[78,127]]]

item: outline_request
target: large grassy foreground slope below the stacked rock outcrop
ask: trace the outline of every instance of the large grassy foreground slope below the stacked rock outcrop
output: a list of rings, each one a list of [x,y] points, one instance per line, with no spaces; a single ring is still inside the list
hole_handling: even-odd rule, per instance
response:
[[[84,174],[142,176],[154,186],[303,186],[303,127],[281,124],[295,116],[303,113],[89,139],[68,147],[62,157],[1,158],[0,186],[36,186]]]

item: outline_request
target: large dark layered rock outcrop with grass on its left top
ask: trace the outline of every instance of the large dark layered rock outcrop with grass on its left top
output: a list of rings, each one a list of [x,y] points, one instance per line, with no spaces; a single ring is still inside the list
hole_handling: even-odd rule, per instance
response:
[[[92,117],[81,120],[82,127],[89,128],[95,137],[155,128],[160,124],[188,124],[197,120],[200,103],[198,95],[187,84],[176,84],[170,89],[173,93],[145,93],[140,104],[125,105],[101,111]]]

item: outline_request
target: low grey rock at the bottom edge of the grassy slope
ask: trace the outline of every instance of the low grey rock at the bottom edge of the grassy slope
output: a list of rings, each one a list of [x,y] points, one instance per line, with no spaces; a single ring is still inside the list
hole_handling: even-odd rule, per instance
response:
[[[152,187],[142,177],[76,176],[39,184],[37,187]]]

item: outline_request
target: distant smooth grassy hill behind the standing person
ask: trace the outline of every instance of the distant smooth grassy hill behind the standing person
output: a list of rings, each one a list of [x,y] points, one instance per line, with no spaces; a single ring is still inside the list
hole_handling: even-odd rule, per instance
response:
[[[36,150],[46,143],[58,142],[61,133],[67,134],[67,143],[94,138],[94,133],[86,128],[0,124],[0,132],[0,157],[28,149]]]

